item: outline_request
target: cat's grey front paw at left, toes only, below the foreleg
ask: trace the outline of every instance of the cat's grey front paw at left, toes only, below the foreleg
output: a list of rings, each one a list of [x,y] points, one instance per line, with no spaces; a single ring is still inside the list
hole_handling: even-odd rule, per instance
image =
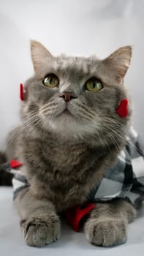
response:
[[[60,222],[58,217],[48,220],[31,217],[20,222],[26,244],[29,246],[44,246],[58,240]]]

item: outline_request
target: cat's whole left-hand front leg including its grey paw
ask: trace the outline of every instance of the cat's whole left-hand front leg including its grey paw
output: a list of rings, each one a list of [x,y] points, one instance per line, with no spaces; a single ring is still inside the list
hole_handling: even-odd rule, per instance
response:
[[[15,198],[15,206],[20,215],[20,227],[26,244],[44,246],[59,238],[60,221],[53,203],[45,198],[35,198],[26,188]]]

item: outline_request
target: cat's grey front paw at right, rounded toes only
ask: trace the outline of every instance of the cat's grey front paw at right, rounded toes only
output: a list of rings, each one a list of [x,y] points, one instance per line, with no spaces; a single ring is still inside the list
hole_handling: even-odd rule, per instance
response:
[[[84,230],[86,238],[97,246],[124,244],[127,237],[127,221],[124,218],[88,219]]]

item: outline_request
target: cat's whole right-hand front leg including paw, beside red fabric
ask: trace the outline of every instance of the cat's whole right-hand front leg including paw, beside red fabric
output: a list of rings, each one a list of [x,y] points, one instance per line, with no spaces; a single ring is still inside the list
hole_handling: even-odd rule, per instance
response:
[[[123,244],[127,238],[128,223],[135,216],[136,210],[125,200],[96,203],[84,226],[86,238],[98,246]]]

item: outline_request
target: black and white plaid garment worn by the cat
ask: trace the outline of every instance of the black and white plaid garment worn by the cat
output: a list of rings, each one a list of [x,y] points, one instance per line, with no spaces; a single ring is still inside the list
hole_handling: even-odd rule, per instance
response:
[[[91,191],[88,201],[107,201],[119,197],[137,206],[144,199],[144,151],[140,144],[137,132],[132,128],[125,148],[113,167],[106,171],[99,186]],[[12,184],[14,198],[21,189],[29,186],[20,173],[15,175]]]

